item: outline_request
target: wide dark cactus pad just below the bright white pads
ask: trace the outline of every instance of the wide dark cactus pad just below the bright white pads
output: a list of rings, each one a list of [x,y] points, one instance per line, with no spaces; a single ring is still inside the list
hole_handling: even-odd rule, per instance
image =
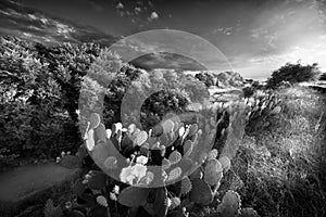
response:
[[[142,206],[147,202],[150,190],[138,187],[127,187],[117,196],[120,204],[129,207]]]

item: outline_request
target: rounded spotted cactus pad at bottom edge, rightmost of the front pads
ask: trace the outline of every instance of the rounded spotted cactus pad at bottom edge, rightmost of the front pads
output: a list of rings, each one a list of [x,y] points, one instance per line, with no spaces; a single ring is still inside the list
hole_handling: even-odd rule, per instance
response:
[[[240,209],[240,195],[233,190],[228,190],[226,192],[223,196],[222,203],[217,206],[217,213],[220,213],[223,217],[236,217],[239,215]]]

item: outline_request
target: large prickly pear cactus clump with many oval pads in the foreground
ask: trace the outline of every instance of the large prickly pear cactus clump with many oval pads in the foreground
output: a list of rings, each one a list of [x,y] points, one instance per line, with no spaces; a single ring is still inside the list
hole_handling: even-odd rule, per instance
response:
[[[129,216],[141,212],[191,216],[198,207],[211,206],[231,167],[236,150],[233,139],[240,137],[240,108],[237,103],[214,103],[202,115],[167,114],[147,131],[121,123],[109,129],[98,113],[90,114],[83,148],[100,170],[76,181],[73,190],[77,197],[65,213],[113,216],[118,209]],[[204,118],[208,116],[212,118]],[[221,140],[229,141],[221,146]],[[227,192],[216,207],[217,216],[253,216],[249,214],[249,209],[241,209],[234,191]]]

